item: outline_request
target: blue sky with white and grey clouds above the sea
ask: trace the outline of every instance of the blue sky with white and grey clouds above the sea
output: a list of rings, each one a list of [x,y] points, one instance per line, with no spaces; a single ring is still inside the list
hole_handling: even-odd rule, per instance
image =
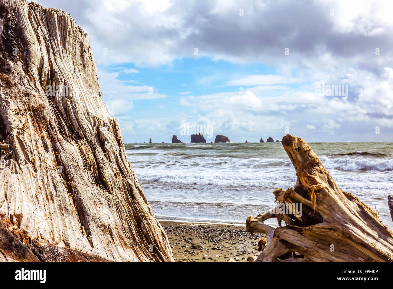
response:
[[[393,1],[36,2],[88,33],[125,143],[393,141]]]

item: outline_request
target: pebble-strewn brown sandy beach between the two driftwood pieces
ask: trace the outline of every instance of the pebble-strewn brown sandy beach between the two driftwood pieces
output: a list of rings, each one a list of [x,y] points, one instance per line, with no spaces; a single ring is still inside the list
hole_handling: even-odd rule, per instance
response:
[[[160,221],[176,262],[246,262],[257,256],[257,241],[244,226]]]

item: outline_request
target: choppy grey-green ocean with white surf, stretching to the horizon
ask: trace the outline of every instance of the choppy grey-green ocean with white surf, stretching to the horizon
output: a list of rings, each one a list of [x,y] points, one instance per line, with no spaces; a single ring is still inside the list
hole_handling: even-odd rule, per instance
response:
[[[393,228],[393,142],[309,143],[338,186]],[[274,207],[275,188],[296,184],[281,143],[125,144],[157,219],[244,225]],[[266,221],[277,226],[275,219]]]

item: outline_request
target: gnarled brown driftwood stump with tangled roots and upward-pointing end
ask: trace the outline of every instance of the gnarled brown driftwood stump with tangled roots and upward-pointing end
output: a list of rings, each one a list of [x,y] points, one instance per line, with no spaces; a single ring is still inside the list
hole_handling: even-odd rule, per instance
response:
[[[248,232],[266,234],[255,261],[393,261],[392,232],[375,212],[340,190],[301,138],[287,134],[282,144],[298,180],[293,189],[274,191],[274,210],[247,218]],[[286,226],[264,224],[274,217]]]

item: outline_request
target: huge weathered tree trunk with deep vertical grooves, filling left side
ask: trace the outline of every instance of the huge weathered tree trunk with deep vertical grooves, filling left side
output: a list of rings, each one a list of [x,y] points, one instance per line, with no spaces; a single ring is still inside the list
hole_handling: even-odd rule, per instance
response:
[[[0,260],[173,261],[68,13],[0,0]]]

